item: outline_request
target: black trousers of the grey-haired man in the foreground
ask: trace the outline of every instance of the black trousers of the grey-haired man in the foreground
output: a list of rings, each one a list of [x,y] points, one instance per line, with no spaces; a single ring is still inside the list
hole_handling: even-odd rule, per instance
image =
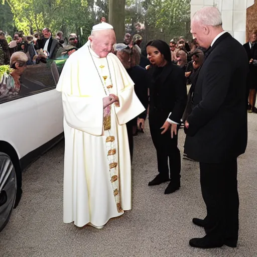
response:
[[[200,182],[207,208],[206,234],[214,240],[238,239],[237,160],[200,163]]]

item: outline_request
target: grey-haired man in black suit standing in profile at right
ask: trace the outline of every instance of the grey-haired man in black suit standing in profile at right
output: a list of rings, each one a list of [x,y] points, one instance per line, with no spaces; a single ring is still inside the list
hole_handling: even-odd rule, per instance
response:
[[[193,92],[192,112],[185,122],[185,153],[200,162],[207,215],[193,219],[206,235],[189,244],[236,247],[237,157],[247,144],[247,55],[242,45],[223,31],[221,14],[214,7],[202,8],[194,15],[191,33],[208,50]]]

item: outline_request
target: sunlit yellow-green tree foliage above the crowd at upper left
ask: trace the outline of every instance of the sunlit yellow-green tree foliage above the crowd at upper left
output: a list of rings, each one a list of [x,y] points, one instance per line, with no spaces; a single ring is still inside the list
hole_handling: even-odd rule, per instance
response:
[[[63,30],[87,35],[92,25],[92,14],[87,0],[6,0],[14,15],[18,30],[25,34],[41,31],[44,27],[53,32]]]

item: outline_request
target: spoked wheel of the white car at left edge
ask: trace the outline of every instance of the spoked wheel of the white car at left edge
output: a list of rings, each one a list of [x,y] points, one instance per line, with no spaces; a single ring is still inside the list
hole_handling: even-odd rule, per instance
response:
[[[0,232],[7,225],[15,204],[17,179],[11,158],[0,152]]]

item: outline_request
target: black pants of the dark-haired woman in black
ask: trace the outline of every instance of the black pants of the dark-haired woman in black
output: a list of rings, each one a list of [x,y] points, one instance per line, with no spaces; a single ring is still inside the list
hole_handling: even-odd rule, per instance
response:
[[[180,179],[181,157],[178,149],[178,134],[171,138],[171,130],[161,135],[160,129],[169,113],[152,112],[149,114],[151,137],[157,152],[158,172],[165,178]],[[179,125],[178,125],[179,129]],[[168,166],[170,165],[170,169]]]

